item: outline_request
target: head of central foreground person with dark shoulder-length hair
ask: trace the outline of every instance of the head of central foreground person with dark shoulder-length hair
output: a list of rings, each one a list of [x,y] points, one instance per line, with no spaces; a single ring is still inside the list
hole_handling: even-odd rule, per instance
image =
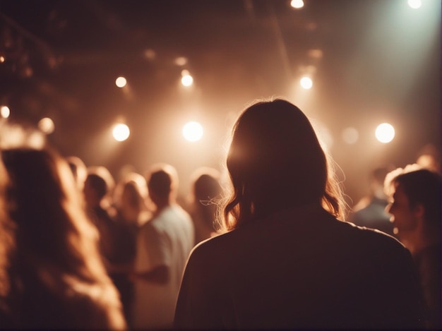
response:
[[[340,190],[309,119],[286,100],[260,101],[237,119],[227,156],[234,193],[225,222],[234,224],[282,208],[323,203],[337,216]]]

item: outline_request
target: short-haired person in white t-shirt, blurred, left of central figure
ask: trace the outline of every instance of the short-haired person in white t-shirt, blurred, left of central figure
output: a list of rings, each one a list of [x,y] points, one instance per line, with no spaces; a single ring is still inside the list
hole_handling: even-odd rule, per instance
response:
[[[133,327],[171,328],[181,278],[193,248],[191,217],[176,202],[177,171],[160,164],[148,175],[156,210],[138,233],[133,279]]]

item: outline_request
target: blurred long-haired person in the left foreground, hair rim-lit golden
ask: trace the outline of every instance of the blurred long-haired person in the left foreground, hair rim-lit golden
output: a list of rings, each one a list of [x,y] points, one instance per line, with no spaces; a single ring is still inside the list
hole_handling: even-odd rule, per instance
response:
[[[48,317],[54,312],[47,307],[56,305],[59,313],[73,318],[71,323],[122,328],[121,303],[102,264],[97,229],[85,214],[72,171],[38,133],[31,137],[40,143],[1,149],[8,175],[6,213],[11,221],[6,300],[11,324],[69,327],[69,321],[60,316],[54,317],[56,321]],[[29,295],[33,293],[40,293],[45,302]],[[91,316],[100,315],[102,320],[80,321],[78,300],[93,308]]]

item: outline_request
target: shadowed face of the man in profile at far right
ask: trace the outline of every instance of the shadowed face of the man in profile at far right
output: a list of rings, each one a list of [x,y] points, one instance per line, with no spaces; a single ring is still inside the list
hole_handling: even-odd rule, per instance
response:
[[[400,185],[396,187],[393,202],[386,207],[386,211],[392,215],[390,221],[395,226],[395,234],[400,239],[407,239],[417,227],[417,214],[410,207],[410,201]]]

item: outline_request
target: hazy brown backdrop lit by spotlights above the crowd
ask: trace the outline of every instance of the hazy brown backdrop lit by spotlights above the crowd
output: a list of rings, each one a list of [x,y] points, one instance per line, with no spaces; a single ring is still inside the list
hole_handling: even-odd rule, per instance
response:
[[[248,102],[286,97],[328,142],[352,204],[373,167],[404,167],[428,144],[440,154],[441,1],[422,1],[414,10],[406,0],[304,0],[294,10],[287,0],[2,0],[0,103],[11,122],[51,117],[62,155],[115,179],[169,162],[185,195],[194,169],[222,168]],[[304,73],[311,90],[299,88]],[[118,119],[131,128],[122,143],[110,133]],[[181,136],[189,120],[205,129],[196,143]],[[385,121],[396,130],[389,144],[374,138]],[[342,140],[350,126],[352,145]]]

